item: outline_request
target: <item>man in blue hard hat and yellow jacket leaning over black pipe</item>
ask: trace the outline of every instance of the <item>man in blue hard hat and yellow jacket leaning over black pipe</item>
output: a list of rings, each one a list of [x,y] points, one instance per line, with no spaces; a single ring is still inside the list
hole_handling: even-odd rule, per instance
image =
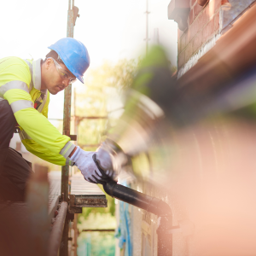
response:
[[[14,131],[20,133],[26,149],[39,158],[59,166],[78,166],[91,183],[108,179],[96,166],[95,160],[101,164],[98,153],[75,146],[47,119],[49,93],[55,95],[77,79],[84,84],[83,76],[90,66],[88,51],[74,38],[61,38],[49,49],[44,61],[0,59],[0,200],[24,201],[26,183],[32,175],[22,155],[9,148]],[[104,149],[99,154],[102,152]],[[111,166],[108,154],[103,155],[103,166],[104,161]]]

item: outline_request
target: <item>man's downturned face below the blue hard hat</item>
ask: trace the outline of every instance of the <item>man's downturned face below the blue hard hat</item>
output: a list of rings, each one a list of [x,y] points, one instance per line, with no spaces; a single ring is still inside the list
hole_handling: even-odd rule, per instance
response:
[[[67,73],[69,78],[75,79],[73,73],[71,73],[63,63],[58,62],[56,65],[58,64],[64,70],[64,73]],[[49,92],[53,95],[57,94],[61,90],[64,90],[67,85],[70,84],[69,79],[63,78],[63,70],[61,70],[59,66],[56,67],[56,65],[55,61],[51,58],[47,59],[45,62],[47,72],[45,73],[44,84],[46,89],[49,90]]]

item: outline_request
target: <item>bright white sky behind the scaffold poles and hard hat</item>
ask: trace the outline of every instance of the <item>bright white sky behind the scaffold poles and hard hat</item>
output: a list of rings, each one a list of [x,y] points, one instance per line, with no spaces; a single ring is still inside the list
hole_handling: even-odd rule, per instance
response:
[[[154,28],[159,28],[160,44],[176,65],[177,23],[167,18],[170,1],[148,0],[148,35],[152,44]],[[75,0],[75,5],[80,17],[74,38],[87,47],[91,67],[144,53],[146,0]],[[0,58],[44,58],[50,44],[67,36],[67,8],[68,0],[0,1]],[[62,118],[62,99],[63,93],[51,96],[49,118]]]

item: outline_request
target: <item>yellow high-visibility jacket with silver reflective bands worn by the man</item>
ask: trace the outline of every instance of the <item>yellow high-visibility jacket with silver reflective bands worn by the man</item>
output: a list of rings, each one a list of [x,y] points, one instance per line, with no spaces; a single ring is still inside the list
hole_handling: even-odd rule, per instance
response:
[[[72,166],[68,155],[75,145],[47,119],[49,91],[41,90],[41,61],[0,59],[0,101],[9,102],[29,152],[55,165]]]

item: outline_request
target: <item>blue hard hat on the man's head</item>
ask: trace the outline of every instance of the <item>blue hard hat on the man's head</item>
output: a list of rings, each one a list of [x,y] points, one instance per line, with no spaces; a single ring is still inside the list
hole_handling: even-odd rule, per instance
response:
[[[84,84],[83,75],[90,66],[90,57],[84,44],[74,38],[61,38],[48,48],[55,50],[68,70]]]

